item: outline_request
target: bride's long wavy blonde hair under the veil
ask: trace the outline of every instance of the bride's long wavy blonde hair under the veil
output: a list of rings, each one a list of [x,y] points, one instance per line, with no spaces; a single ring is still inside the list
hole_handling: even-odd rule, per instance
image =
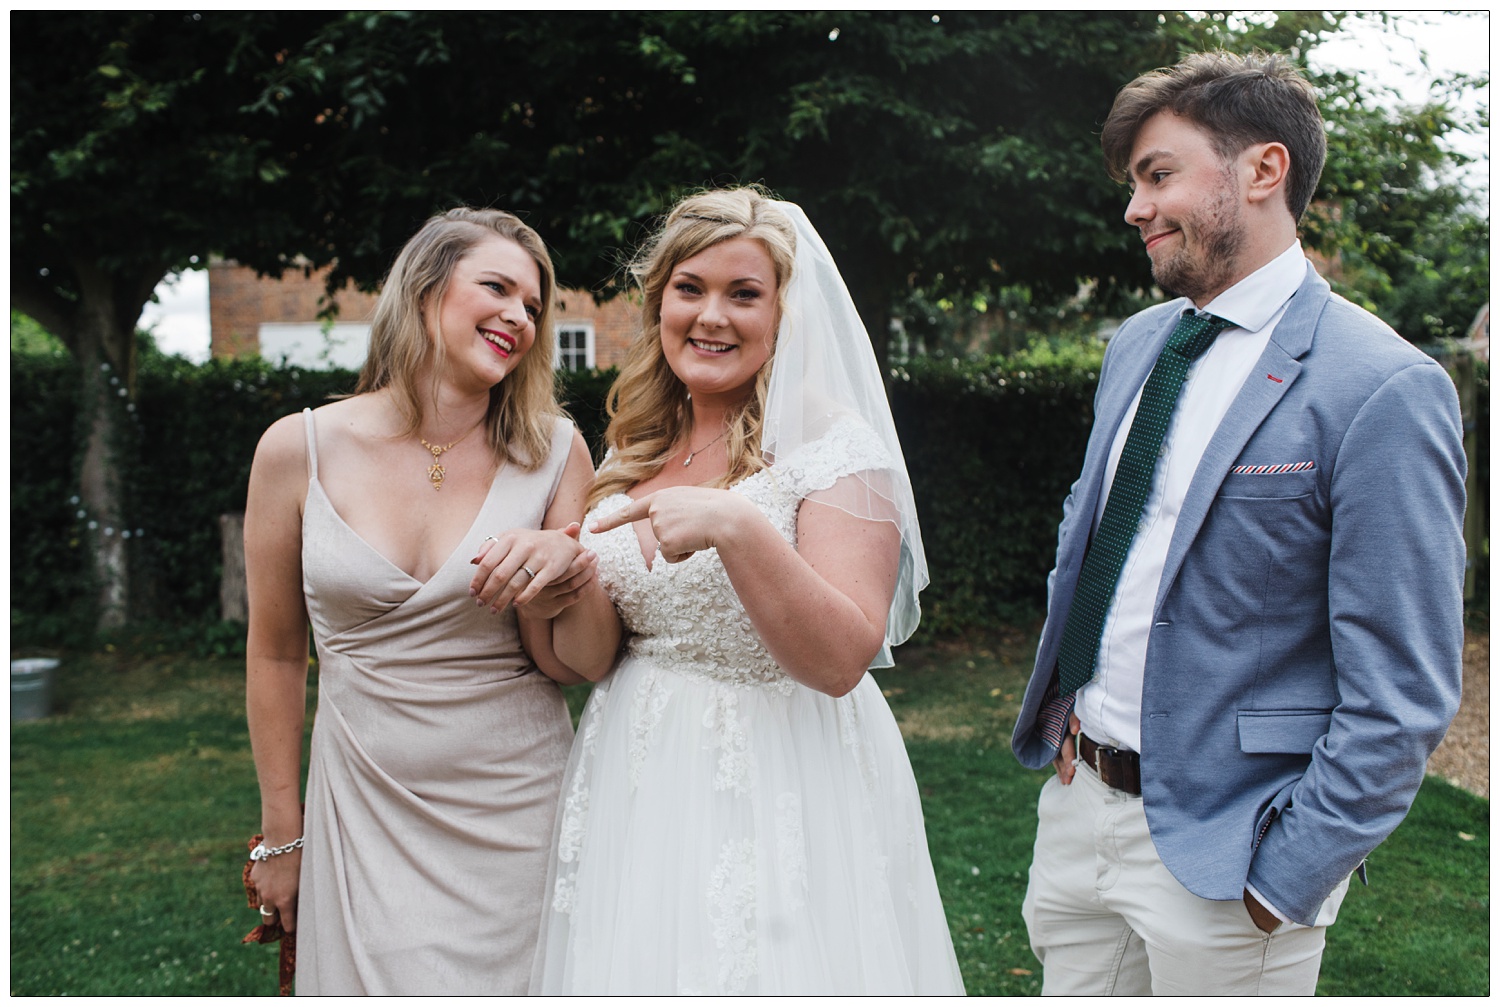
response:
[[[684,198],[632,263],[630,273],[640,287],[640,329],[609,389],[604,443],[612,453],[594,480],[590,507],[656,476],[674,449],[692,437],[687,386],[662,353],[662,294],[678,263],[736,237],[760,242],[771,255],[780,317],[783,293],[792,279],[796,233],[792,221],[772,206],[771,194],[759,186],[711,189]],[[724,437],[729,470],[711,486],[730,486],[765,468],[760,423],[774,359],[776,347],[756,375],[754,393],[729,416]]]

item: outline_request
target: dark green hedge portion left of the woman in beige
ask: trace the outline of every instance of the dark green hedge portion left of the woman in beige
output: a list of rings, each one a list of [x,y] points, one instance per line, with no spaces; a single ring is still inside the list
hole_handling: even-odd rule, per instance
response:
[[[278,417],[352,386],[346,371],[142,354],[116,446],[128,459],[132,617],[218,620],[219,515],[244,509],[256,441]],[[78,389],[70,357],[12,353],[10,615],[14,636],[27,642],[75,642],[93,626]]]

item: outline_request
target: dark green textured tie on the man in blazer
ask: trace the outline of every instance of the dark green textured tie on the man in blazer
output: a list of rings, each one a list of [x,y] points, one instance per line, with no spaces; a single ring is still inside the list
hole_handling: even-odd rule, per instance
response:
[[[1188,366],[1203,356],[1218,333],[1230,324],[1233,323],[1214,315],[1184,315],[1172,330],[1167,348],[1156,357],[1150,377],[1146,378],[1136,419],[1125,437],[1125,450],[1120,452],[1120,461],[1114,467],[1114,482],[1110,485],[1110,498],[1104,504],[1100,530],[1094,533],[1089,552],[1083,557],[1078,590],[1072,596],[1068,621],[1062,629],[1062,644],[1058,650],[1059,695],[1072,695],[1094,677],[1104,617],[1110,611],[1110,602],[1114,600],[1114,587],[1119,584],[1131,542],[1136,540],[1140,512],[1146,506],[1150,482],[1156,476],[1161,438],[1167,434],[1172,411],[1178,408],[1182,381],[1188,377]]]

